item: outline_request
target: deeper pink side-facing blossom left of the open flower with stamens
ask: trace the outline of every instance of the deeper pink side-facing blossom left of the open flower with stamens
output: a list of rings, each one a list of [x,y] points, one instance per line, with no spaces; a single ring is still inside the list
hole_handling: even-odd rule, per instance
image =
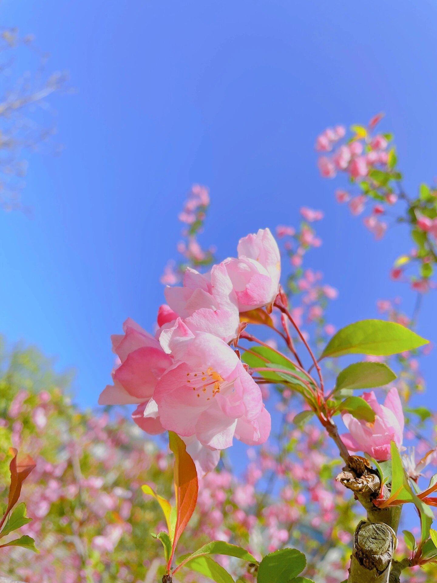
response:
[[[107,385],[101,393],[100,405],[146,401],[153,396],[158,378],[173,362],[160,343],[131,318],[124,322],[123,330],[124,334],[111,336],[112,352],[121,364],[112,373],[114,385]]]

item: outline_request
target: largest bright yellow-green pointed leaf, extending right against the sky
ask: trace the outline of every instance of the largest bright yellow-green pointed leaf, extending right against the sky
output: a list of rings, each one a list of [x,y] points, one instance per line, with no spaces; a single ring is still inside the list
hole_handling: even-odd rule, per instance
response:
[[[384,320],[361,320],[341,328],[327,343],[320,359],[344,354],[389,356],[428,344],[408,328]]]

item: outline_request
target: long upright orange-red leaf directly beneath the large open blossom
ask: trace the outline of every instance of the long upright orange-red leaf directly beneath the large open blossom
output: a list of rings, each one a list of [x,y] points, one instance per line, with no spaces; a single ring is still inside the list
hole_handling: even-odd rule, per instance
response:
[[[198,475],[193,460],[186,452],[184,441],[173,431],[168,432],[170,449],[174,453],[174,486],[176,494],[176,524],[172,541],[171,557],[167,569],[170,570],[176,545],[185,526],[196,508],[198,500]]]

